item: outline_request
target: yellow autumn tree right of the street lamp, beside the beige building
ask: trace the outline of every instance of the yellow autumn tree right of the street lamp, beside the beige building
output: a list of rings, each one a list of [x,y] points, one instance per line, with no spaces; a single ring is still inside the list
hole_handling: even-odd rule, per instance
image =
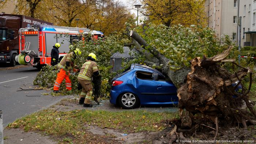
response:
[[[148,16],[148,22],[166,26],[206,25],[204,0],[142,0],[141,3],[141,12]]]

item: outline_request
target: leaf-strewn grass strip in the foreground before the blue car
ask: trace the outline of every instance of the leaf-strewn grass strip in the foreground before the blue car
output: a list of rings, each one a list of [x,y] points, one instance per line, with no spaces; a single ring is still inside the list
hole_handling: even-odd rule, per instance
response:
[[[120,132],[155,132],[166,128],[166,121],[178,118],[177,113],[153,113],[149,111],[54,111],[42,110],[20,118],[9,124],[7,128],[23,128],[27,131],[39,131],[46,135],[57,137],[59,143],[89,143],[100,137],[93,137],[86,132],[88,125],[100,128],[118,129]],[[101,140],[98,140],[101,141]]]

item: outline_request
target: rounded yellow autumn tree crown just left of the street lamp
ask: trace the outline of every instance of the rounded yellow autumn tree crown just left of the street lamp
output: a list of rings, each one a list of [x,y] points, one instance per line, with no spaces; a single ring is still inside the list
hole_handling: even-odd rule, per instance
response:
[[[121,31],[125,23],[132,19],[128,9],[120,1],[113,0],[98,0],[80,15],[83,27],[99,30],[104,34]]]

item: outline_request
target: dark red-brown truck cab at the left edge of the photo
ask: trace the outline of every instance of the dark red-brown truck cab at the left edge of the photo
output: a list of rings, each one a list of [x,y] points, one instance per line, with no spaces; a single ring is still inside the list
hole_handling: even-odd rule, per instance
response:
[[[0,16],[0,63],[16,64],[14,58],[19,53],[20,18]]]

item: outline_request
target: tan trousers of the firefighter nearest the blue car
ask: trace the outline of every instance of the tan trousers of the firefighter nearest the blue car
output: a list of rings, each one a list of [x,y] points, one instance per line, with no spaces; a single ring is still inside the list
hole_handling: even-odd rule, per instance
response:
[[[91,100],[93,100],[93,85],[90,81],[87,80],[80,80],[78,79],[78,82],[82,85],[82,92],[80,94],[80,98],[84,98],[85,104],[91,104]]]

